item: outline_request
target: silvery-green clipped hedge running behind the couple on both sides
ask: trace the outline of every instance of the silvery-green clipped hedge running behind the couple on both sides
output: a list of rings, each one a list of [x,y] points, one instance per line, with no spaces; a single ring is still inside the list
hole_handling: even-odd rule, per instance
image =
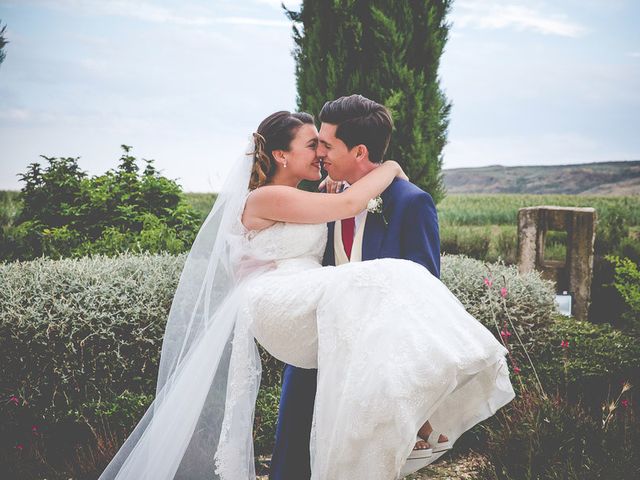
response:
[[[131,429],[136,412],[155,394],[162,335],[184,259],[124,254],[0,264],[0,394],[26,401],[33,418],[49,423],[84,418],[95,426],[111,412],[111,420],[122,423],[114,428]],[[451,255],[442,267],[443,281],[495,335],[488,297],[494,292],[482,280],[488,269],[507,279],[507,306],[522,318],[523,332],[544,324],[553,309],[547,284],[535,274],[520,277],[512,267]],[[262,357],[263,388],[278,387],[282,364],[264,350]],[[261,393],[257,438],[265,451],[273,437],[274,392]]]

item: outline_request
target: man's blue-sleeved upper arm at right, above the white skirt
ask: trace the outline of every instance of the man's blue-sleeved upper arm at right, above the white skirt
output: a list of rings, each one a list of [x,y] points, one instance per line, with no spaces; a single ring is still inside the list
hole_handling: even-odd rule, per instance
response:
[[[435,203],[427,192],[408,202],[402,224],[403,258],[423,265],[440,278],[440,229]]]

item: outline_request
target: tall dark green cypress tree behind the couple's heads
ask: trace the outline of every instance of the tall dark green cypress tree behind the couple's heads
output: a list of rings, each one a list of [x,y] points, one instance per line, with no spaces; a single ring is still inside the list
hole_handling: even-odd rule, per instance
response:
[[[395,124],[386,158],[438,202],[451,104],[438,66],[451,0],[305,0],[294,22],[299,110],[359,93],[384,104]]]

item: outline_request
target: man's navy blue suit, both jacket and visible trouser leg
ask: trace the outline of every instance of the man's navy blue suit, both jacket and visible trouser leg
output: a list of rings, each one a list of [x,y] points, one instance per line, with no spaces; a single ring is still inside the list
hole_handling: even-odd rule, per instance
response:
[[[410,182],[396,178],[381,197],[382,214],[367,214],[362,260],[412,260],[440,278],[440,232],[431,195]],[[323,265],[335,265],[334,223],[329,223],[328,229]],[[311,478],[309,437],[316,373],[317,370],[285,365],[270,480]]]

